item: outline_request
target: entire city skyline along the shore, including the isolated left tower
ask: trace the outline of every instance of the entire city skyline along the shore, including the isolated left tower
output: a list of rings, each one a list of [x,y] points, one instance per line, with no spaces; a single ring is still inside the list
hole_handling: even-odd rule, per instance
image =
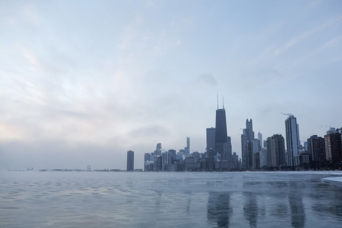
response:
[[[232,152],[231,137],[227,136],[226,112],[216,110],[215,127],[206,129],[204,153],[190,153],[190,138],[186,147],[162,151],[161,143],[156,150],[144,155],[144,171],[237,171],[237,170],[299,170],[342,169],[342,128],[332,128],[323,137],[311,136],[301,145],[297,118],[288,114],[285,120],[285,138],[273,134],[262,140],[254,136],[252,119],[246,119],[241,134],[241,158]],[[127,152],[127,171],[134,170],[134,152]]]

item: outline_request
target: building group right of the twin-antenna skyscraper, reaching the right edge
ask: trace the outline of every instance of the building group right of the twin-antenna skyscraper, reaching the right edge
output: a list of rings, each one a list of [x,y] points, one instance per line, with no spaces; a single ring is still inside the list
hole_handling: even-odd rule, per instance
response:
[[[311,136],[301,145],[299,124],[293,115],[285,120],[286,144],[281,134],[262,141],[254,139],[252,119],[246,120],[241,134],[242,169],[293,170],[341,169],[342,128],[330,128],[322,137]],[[286,149],[285,149],[286,148]]]

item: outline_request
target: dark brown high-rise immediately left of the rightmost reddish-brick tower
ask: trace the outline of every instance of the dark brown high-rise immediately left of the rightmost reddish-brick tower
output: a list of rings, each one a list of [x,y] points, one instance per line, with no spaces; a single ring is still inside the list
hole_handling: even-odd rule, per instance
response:
[[[307,139],[307,153],[312,154],[312,160],[318,162],[325,161],[324,138],[317,135]]]

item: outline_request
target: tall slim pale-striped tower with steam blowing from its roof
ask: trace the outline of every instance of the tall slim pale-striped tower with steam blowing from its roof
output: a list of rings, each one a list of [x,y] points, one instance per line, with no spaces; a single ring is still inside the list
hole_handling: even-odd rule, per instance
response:
[[[293,115],[285,120],[285,132],[286,132],[286,149],[287,158],[286,162],[288,166],[294,166],[293,156],[298,155],[298,130],[297,130],[297,118]]]

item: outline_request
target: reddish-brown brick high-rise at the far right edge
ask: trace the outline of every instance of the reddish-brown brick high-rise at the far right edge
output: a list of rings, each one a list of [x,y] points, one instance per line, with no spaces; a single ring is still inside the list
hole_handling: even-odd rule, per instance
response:
[[[331,133],[324,136],[325,158],[333,163],[341,161],[341,134]]]

